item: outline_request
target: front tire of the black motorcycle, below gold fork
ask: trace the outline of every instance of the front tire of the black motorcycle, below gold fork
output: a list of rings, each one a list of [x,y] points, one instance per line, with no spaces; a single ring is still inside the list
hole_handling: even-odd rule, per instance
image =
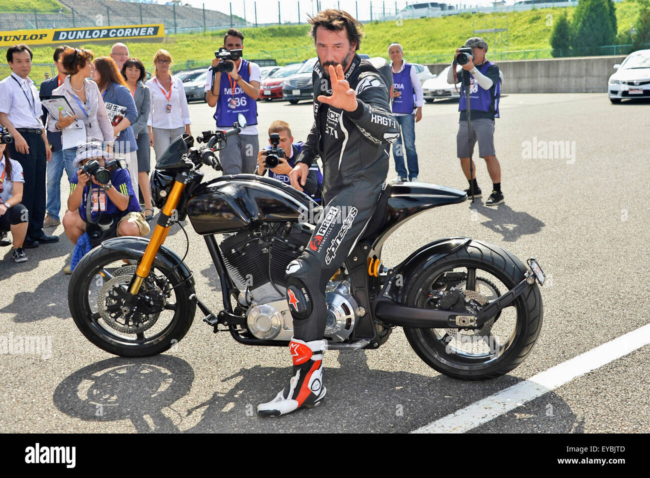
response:
[[[99,314],[93,314],[88,303],[88,287],[96,276],[96,271],[104,265],[120,261],[120,259],[137,260],[139,258],[121,250],[100,247],[92,250],[79,261],[68,286],[68,305],[72,319],[88,340],[111,354],[122,357],[148,357],[170,349],[172,345],[181,341],[194,321],[196,302],[189,299],[190,295],[194,293],[194,286],[185,282],[185,284],[174,288],[174,315],[159,336],[151,339],[150,343],[127,341],[120,337],[118,332],[112,332],[107,326],[101,326],[98,323]],[[168,279],[174,277],[172,269],[159,258],[154,259],[153,268],[162,272]]]

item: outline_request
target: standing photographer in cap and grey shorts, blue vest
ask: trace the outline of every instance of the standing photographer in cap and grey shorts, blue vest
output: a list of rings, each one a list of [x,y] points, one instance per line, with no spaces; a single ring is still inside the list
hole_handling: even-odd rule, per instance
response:
[[[501,193],[501,166],[494,149],[494,118],[499,118],[501,84],[499,67],[486,60],[486,53],[487,43],[483,38],[469,38],[464,47],[456,49],[454,63],[447,75],[447,83],[455,85],[459,81],[456,78],[462,74],[463,86],[458,103],[460,120],[456,135],[456,149],[461,168],[469,182],[469,189],[465,189],[465,193],[468,196],[472,193],[474,197],[481,196],[480,187],[476,183],[476,169],[470,165],[474,144],[478,140],[478,155],[485,159],[487,172],[493,183],[492,193],[487,198],[486,206],[497,206],[503,202],[503,193]],[[465,88],[469,88],[471,145],[467,126]]]

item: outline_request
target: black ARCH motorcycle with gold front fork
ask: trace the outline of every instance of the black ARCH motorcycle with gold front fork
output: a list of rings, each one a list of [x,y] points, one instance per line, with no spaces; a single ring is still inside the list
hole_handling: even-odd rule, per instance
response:
[[[309,196],[253,174],[203,182],[202,165],[220,170],[215,152],[245,127],[206,131],[194,147],[179,136],[151,175],[162,209],[151,239],[117,237],[75,268],[70,312],[92,343],[112,354],[159,354],[180,341],[196,307],[214,332],[244,345],[287,346],[293,335],[285,269],[308,245],[322,208]],[[424,183],[386,185],[376,213],[326,287],[328,349],[377,349],[404,328],[431,367],[465,380],[499,377],[521,364],[541,330],[544,274],[499,246],[469,237],[439,239],[395,267],[382,246],[404,222],[467,194]],[[192,271],[163,243],[189,217],[203,235],[220,280],[223,310],[212,313],[194,291]],[[309,220],[311,219],[311,221]],[[218,244],[216,234],[222,234]],[[189,243],[189,241],[188,241]],[[186,252],[187,255],[187,252]]]

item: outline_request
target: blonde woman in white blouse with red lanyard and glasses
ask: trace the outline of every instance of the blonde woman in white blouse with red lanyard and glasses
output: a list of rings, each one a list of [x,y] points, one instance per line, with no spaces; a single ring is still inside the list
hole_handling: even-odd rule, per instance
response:
[[[151,92],[151,111],[147,126],[156,159],[179,135],[191,135],[190,110],[183,82],[169,73],[172,55],[160,49],[153,57],[154,75],[146,85]]]

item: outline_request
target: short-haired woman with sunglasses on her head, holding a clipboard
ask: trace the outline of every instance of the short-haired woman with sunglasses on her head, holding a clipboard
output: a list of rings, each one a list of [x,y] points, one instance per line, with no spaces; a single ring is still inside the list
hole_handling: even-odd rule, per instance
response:
[[[64,163],[74,161],[79,144],[96,140],[112,147],[113,128],[104,101],[97,84],[88,78],[92,58],[92,51],[83,48],[66,48],[62,53],[63,67],[70,74],[52,95],[65,96],[74,114],[64,116],[59,111],[57,118],[50,111],[47,129],[61,131]]]

